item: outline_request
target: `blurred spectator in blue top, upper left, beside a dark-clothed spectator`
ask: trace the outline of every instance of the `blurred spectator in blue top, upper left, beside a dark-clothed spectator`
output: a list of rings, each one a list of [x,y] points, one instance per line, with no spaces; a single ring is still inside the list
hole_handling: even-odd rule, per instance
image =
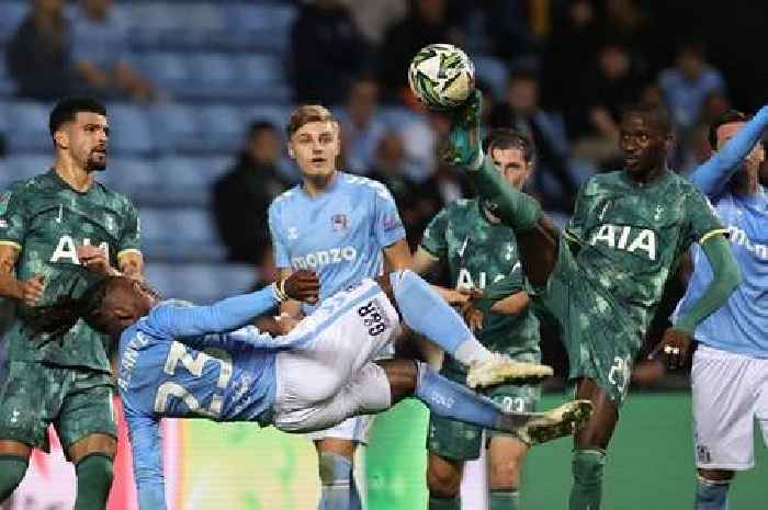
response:
[[[72,61],[86,91],[148,101],[151,83],[128,64],[128,34],[112,0],[80,0],[72,20]]]

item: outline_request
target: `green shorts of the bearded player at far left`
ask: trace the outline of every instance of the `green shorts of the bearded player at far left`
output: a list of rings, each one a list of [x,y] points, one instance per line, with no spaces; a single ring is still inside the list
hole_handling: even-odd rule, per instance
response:
[[[90,434],[117,438],[112,377],[88,369],[11,361],[0,384],[0,439],[48,452],[54,424],[65,450]]]

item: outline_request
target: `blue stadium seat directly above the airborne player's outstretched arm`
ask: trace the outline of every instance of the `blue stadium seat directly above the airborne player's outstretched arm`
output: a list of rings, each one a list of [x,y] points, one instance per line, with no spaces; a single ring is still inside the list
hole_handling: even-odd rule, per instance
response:
[[[166,298],[211,304],[217,299],[250,290],[256,270],[240,264],[163,264],[147,265],[148,281]]]

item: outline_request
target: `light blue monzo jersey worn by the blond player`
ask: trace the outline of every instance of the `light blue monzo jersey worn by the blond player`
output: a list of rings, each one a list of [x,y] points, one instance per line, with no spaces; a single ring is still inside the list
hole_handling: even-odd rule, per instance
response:
[[[302,185],[278,196],[269,225],[276,267],[314,270],[320,301],[381,274],[382,250],[405,238],[386,186],[345,172],[315,197]],[[305,313],[310,310],[304,305]]]

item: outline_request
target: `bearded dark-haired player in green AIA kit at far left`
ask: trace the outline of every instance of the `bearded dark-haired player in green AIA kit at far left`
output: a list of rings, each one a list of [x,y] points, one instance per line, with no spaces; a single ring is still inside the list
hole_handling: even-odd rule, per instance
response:
[[[53,423],[75,464],[75,509],[97,510],[106,507],[117,435],[106,339],[82,320],[33,335],[25,309],[67,295],[71,284],[55,276],[71,264],[140,277],[139,223],[131,201],[94,180],[106,168],[104,106],[64,100],[49,129],[53,169],[0,195],[0,295],[23,305],[5,337],[10,369],[0,383],[0,502],[23,478],[31,450],[47,450]]]

